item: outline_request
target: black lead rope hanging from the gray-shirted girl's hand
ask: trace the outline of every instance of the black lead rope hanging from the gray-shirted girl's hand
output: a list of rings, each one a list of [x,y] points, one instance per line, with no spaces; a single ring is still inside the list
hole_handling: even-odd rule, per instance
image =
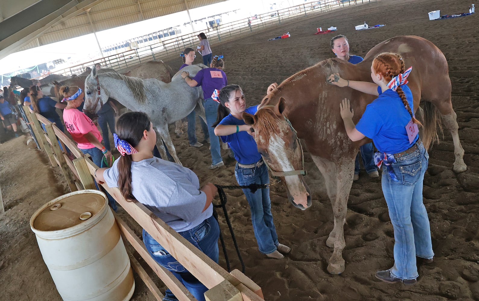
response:
[[[236,249],[236,254],[238,254],[238,259],[239,263],[241,264],[241,272],[244,273],[245,266],[243,262],[243,258],[241,257],[241,252],[239,251],[238,247],[238,242],[236,241],[235,234],[233,232],[233,226],[231,225],[231,222],[229,221],[228,217],[228,211],[226,210],[226,202],[227,202],[227,197],[224,189],[249,189],[251,190],[251,193],[255,193],[256,190],[258,189],[265,189],[269,188],[271,185],[274,185],[278,182],[275,182],[273,184],[250,184],[250,185],[239,185],[239,186],[225,186],[225,185],[215,185],[216,188],[218,189],[218,195],[219,195],[219,204],[213,204],[214,208],[223,208],[223,213],[225,214],[225,220],[226,223],[228,224],[229,232],[231,233],[231,239],[233,239],[233,244],[235,245]],[[213,210],[213,216],[215,219],[218,221],[218,213],[216,212],[216,209]],[[226,267],[228,268],[228,272],[231,272],[231,268],[229,266],[229,259],[228,259],[228,253],[226,251],[226,245],[225,241],[223,239],[223,234],[221,234],[221,231],[219,232],[219,240],[221,242],[221,247],[223,249],[223,254],[225,255],[225,261],[226,261]]]

